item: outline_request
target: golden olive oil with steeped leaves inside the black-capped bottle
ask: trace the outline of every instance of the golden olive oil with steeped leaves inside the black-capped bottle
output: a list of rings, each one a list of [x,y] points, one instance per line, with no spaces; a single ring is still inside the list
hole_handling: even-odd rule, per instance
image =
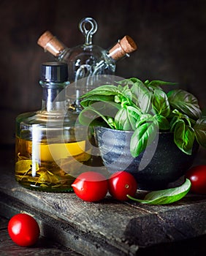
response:
[[[72,190],[72,182],[91,158],[85,147],[85,140],[32,145],[30,140],[16,138],[15,178],[29,189]]]

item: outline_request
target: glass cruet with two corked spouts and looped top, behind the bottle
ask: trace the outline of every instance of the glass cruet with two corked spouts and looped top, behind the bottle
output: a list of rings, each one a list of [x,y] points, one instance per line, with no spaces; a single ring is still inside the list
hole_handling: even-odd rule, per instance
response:
[[[97,30],[96,20],[84,18],[80,20],[79,29],[85,37],[83,45],[67,48],[50,31],[46,31],[39,37],[37,43],[56,57],[58,61],[68,64],[69,81],[74,83],[69,91],[68,105],[69,110],[80,113],[82,107],[79,97],[87,91],[105,83],[113,82],[115,75],[116,61],[123,56],[137,49],[134,40],[125,36],[109,50],[104,50],[92,42]],[[83,80],[83,78],[86,78]],[[79,80],[80,83],[78,83]]]

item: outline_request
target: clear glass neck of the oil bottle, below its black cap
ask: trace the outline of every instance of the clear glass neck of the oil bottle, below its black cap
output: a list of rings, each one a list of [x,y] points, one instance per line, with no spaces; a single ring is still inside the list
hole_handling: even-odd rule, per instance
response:
[[[47,112],[65,111],[66,90],[64,89],[69,82],[47,83],[40,81],[39,83],[43,89],[42,110]]]

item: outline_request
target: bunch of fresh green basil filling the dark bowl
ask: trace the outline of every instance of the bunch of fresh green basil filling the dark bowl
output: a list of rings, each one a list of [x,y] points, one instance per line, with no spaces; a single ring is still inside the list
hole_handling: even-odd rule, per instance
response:
[[[191,154],[194,140],[206,148],[206,118],[197,98],[182,89],[166,93],[162,87],[168,85],[174,83],[129,78],[116,85],[99,86],[80,97],[83,110],[79,121],[134,131],[132,157],[144,151],[157,132],[173,132],[175,144],[186,154]]]

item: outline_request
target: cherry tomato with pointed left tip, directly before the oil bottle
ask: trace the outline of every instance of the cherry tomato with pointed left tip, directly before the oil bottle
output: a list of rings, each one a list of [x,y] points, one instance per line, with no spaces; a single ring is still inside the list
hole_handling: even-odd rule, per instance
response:
[[[108,181],[101,173],[88,171],[78,176],[72,188],[81,199],[89,202],[102,200],[108,191]]]

